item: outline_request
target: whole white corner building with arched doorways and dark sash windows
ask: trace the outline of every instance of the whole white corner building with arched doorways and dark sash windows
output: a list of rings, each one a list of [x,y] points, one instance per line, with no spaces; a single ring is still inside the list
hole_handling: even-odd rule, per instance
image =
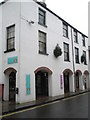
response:
[[[0,87],[16,103],[88,89],[88,37],[44,1],[0,4]]]

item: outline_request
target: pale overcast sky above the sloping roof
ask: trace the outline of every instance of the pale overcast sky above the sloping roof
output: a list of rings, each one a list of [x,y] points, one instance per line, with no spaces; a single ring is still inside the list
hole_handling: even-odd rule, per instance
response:
[[[1,2],[2,0],[0,0]],[[42,0],[38,0],[42,1]],[[82,33],[88,35],[89,0],[45,0],[47,7]]]

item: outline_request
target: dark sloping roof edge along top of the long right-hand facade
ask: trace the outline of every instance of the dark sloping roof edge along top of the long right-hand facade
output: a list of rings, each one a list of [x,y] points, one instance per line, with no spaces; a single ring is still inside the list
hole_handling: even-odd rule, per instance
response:
[[[54,16],[56,16],[57,18],[59,18],[60,20],[62,20],[63,22],[65,22],[66,24],[68,24],[71,28],[75,29],[77,32],[79,32],[80,34],[84,35],[86,38],[88,38],[88,36],[86,36],[85,34],[83,34],[82,32],[80,32],[79,30],[77,30],[75,27],[73,27],[71,24],[69,24],[68,22],[66,22],[64,19],[62,19],[60,16],[58,16],[56,13],[54,13],[53,11],[51,11],[49,8],[43,6],[40,2],[36,2],[37,4],[39,4],[40,6],[42,6],[44,9],[48,10],[50,13],[52,13]]]

